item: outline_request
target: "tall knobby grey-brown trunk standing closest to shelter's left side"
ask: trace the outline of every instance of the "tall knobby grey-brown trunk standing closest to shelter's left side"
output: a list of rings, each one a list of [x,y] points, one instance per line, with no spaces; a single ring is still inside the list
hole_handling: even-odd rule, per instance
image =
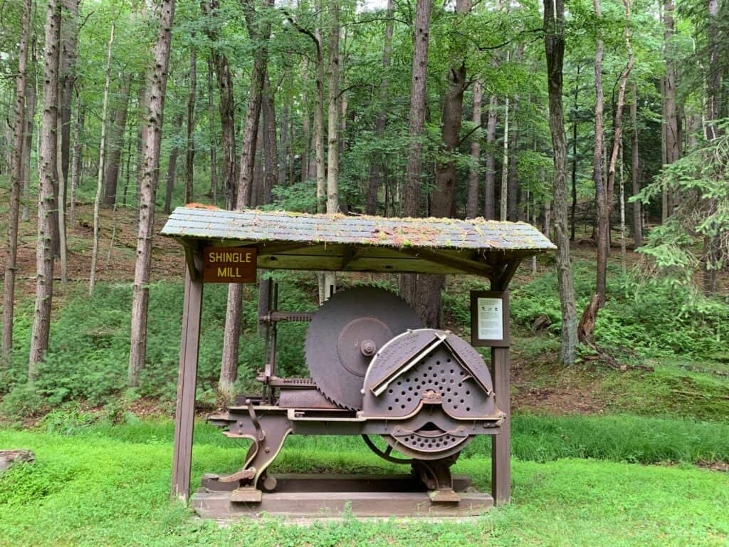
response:
[[[139,375],[147,357],[147,306],[149,304],[149,267],[152,262],[152,237],[155,232],[155,194],[160,168],[160,142],[162,139],[165,90],[170,61],[174,0],[161,0],[159,29],[154,49],[154,64],[149,70],[149,90],[145,109],[144,146],[142,147],[142,176],[139,203],[139,233],[131,320],[131,347],[129,352],[128,384],[139,386]]]

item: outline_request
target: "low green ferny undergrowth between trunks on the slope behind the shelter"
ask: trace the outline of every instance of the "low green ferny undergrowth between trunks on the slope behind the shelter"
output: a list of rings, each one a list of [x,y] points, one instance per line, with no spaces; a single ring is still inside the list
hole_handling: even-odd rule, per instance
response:
[[[560,311],[557,279],[545,258],[538,276],[515,280],[511,298],[511,317],[515,349],[539,346],[558,340]],[[714,370],[729,369],[729,304],[720,300],[687,295],[686,287],[668,282],[640,279],[636,272],[621,276],[616,264],[608,276],[609,300],[600,311],[596,325],[596,342],[609,349],[626,365],[648,362],[655,367],[650,375],[623,373],[622,377],[604,375],[605,389],[617,389],[620,401],[607,400],[612,411],[621,409],[641,414],[678,413],[700,418],[721,419],[729,412],[729,390],[724,377],[712,376]],[[593,265],[588,260],[574,260],[574,284],[578,308],[590,298]],[[316,284],[311,275],[274,274],[280,284],[279,309],[310,311],[316,309]],[[368,282],[396,290],[394,277],[380,276],[376,281],[346,276],[343,285]],[[449,276],[444,292],[445,322],[456,332],[467,335],[470,289],[487,288],[477,279]],[[71,286],[72,287],[72,286]],[[206,286],[203,323],[200,335],[198,400],[203,405],[217,403],[217,379],[225,325],[227,286]],[[36,381],[26,383],[26,360],[30,344],[32,307],[20,300],[15,322],[15,352],[12,366],[0,371],[0,416],[10,419],[40,416],[69,400],[82,400],[88,406],[105,406],[115,398],[122,402],[147,397],[170,410],[176,395],[182,322],[182,284],[157,282],[149,287],[147,366],[141,387],[126,389],[129,351],[131,287],[128,283],[103,283],[94,295],[86,294],[85,285],[71,288],[54,314],[50,350],[37,368]],[[239,357],[238,384],[242,391],[259,388],[254,381],[262,367],[264,341],[258,333],[257,292],[246,286]],[[537,335],[529,329],[537,317],[545,316],[550,325]],[[284,323],[278,330],[278,371],[282,375],[305,376],[303,341],[307,325]],[[535,342],[544,340],[544,342]],[[549,350],[550,352],[553,350]],[[589,350],[583,355],[588,357]],[[555,360],[555,354],[549,359]],[[543,357],[543,356],[542,356]],[[701,362],[700,373],[664,367],[671,360]],[[703,374],[701,371],[709,371]],[[539,368],[534,368],[538,373]],[[622,405],[620,403],[623,403]]]

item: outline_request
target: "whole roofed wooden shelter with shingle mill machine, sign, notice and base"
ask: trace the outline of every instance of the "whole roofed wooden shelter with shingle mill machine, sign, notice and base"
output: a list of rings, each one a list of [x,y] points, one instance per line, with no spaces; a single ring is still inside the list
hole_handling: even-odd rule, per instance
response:
[[[507,286],[521,260],[554,249],[530,225],[483,219],[397,219],[178,208],[163,235],[180,241],[186,283],[177,397],[174,496],[190,491],[192,425],[203,285],[257,281],[257,269],[468,274],[470,340],[426,328],[405,300],[377,287],[331,292],[318,311],[279,311],[276,284],[260,282],[265,354],[256,395],[208,419],[250,441],[241,468],[208,473],[192,497],[202,516],[477,514],[510,497]],[[478,279],[480,277],[481,279]],[[490,290],[482,290],[483,278]],[[416,290],[422,275],[416,277]],[[276,371],[278,324],[308,322],[307,378]],[[467,325],[464,325],[466,327]],[[491,348],[491,371],[475,346]],[[359,435],[399,475],[274,475],[289,435]],[[491,494],[451,466],[491,435]]]

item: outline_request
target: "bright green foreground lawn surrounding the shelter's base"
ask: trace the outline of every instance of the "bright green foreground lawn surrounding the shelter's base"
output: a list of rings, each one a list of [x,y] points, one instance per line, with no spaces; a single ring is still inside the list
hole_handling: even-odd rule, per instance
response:
[[[594,424],[593,424],[594,426]],[[155,430],[157,435],[155,435]],[[232,470],[243,451],[198,428],[193,484]],[[0,476],[2,546],[726,546],[729,473],[692,465],[646,466],[597,459],[515,459],[513,502],[469,521],[240,521],[195,519],[168,501],[167,422],[141,422],[75,435],[0,430],[0,446],[36,451],[36,463]],[[278,471],[391,471],[363,449],[295,439]],[[338,450],[332,451],[332,447]],[[456,465],[488,489],[488,458]]]

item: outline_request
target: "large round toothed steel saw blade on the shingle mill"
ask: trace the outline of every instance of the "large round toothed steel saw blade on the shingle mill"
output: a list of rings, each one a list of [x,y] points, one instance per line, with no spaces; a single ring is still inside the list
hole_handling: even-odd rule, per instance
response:
[[[327,399],[360,410],[373,346],[376,352],[394,336],[422,324],[408,303],[388,290],[356,287],[336,292],[314,314],[306,331],[311,379]]]

